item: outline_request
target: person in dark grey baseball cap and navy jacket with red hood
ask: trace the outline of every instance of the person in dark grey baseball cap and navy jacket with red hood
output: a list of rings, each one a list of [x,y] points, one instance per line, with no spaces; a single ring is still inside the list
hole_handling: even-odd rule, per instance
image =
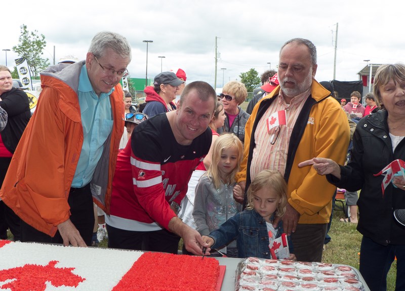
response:
[[[180,80],[173,72],[163,72],[157,74],[153,86],[147,86],[143,91],[146,94],[146,106],[143,113],[153,117],[160,113],[176,110],[173,100],[179,86],[184,81]]]

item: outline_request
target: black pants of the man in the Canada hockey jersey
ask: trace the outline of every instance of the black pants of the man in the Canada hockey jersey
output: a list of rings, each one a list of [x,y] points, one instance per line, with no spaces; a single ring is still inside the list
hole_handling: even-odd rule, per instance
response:
[[[180,236],[166,229],[132,231],[106,224],[108,248],[177,254]]]

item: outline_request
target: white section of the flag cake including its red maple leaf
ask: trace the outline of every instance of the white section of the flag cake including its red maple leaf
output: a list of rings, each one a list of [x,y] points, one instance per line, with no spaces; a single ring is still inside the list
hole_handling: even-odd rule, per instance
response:
[[[109,251],[0,240],[0,290],[119,290],[143,253]]]

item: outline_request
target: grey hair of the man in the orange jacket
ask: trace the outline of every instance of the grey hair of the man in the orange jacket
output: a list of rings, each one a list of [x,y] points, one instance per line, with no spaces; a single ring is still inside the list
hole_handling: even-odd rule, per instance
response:
[[[118,33],[101,31],[93,37],[89,47],[89,53],[101,58],[106,49],[113,50],[121,58],[129,58],[130,61],[132,59],[130,43],[127,38]]]

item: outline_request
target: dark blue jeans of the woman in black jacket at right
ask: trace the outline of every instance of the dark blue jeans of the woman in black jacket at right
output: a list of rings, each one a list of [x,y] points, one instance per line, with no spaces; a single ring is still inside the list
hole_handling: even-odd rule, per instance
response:
[[[405,246],[383,246],[363,236],[360,247],[360,273],[371,291],[387,290],[387,274],[395,256],[395,290],[405,290]]]

